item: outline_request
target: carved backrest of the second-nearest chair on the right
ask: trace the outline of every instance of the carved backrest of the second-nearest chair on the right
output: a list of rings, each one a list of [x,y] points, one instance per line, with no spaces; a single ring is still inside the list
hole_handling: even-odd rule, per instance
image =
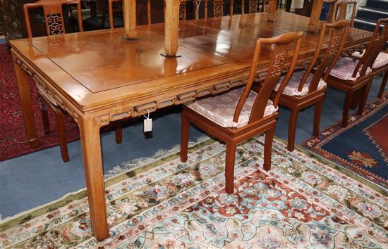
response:
[[[349,20],[339,20],[335,23],[325,23],[322,27],[322,31],[320,34],[320,39],[318,40],[317,49],[315,49],[315,54],[313,56],[313,60],[311,60],[310,65],[301,79],[301,83],[298,86],[298,91],[302,91],[303,86],[310,75],[311,70],[314,68],[315,63],[320,55],[320,49],[323,45],[323,39],[326,36],[326,33],[330,34],[330,41],[325,56],[323,56],[320,65],[318,65],[317,70],[311,79],[310,86],[308,92],[313,92],[317,90],[320,79],[326,81],[327,76],[332,70],[334,64],[342,53],[342,49],[344,48],[344,43],[346,38],[348,37],[349,32]]]

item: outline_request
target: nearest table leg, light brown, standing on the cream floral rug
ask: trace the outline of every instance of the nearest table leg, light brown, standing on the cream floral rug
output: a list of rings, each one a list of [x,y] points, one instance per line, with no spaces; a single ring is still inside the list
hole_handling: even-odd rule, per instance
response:
[[[109,236],[109,229],[104,198],[101,143],[99,141],[99,128],[101,125],[93,118],[80,118],[78,125],[80,127],[92,231],[97,241],[102,241]]]

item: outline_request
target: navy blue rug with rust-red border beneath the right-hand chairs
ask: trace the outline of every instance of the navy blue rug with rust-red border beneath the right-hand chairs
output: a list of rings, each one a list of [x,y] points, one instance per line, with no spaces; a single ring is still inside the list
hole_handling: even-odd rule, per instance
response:
[[[352,115],[301,146],[344,169],[388,189],[388,94],[370,103],[363,116]]]

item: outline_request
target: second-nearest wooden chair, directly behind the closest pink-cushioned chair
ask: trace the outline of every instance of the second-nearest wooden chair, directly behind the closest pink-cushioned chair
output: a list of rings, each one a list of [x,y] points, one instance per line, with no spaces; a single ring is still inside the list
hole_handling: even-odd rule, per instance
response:
[[[315,105],[313,135],[318,136],[320,134],[320,115],[327,89],[325,81],[329,75],[330,68],[332,68],[337,58],[341,55],[344,42],[348,35],[349,24],[350,22],[348,20],[340,20],[336,23],[325,23],[322,27],[313,60],[311,60],[308,68],[306,70],[293,72],[289,84],[281,90],[282,94],[280,96],[279,105],[291,109],[287,144],[289,151],[293,151],[295,147],[298,113],[303,108]],[[317,66],[314,73],[311,73],[317,63],[320,49],[324,43],[323,39],[327,32],[330,32],[331,37],[329,47],[325,56],[323,56],[320,65]],[[275,89],[279,89],[280,86],[281,82],[278,83],[278,86]],[[277,91],[274,91],[273,97],[275,98],[276,96],[278,96]]]

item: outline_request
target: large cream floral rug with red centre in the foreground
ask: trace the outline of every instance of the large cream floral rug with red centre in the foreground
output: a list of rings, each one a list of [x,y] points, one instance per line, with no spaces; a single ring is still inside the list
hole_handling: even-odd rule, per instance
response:
[[[85,190],[6,219],[0,248],[387,248],[388,198],[263,137],[238,147],[235,193],[224,192],[225,146],[207,140],[133,162],[106,181],[110,236],[91,234]],[[379,190],[377,188],[377,190]]]

